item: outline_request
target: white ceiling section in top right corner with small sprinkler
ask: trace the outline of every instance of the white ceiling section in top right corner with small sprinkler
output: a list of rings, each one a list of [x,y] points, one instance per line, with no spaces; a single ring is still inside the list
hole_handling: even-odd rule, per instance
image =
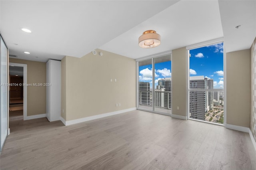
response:
[[[221,0],[219,4],[226,52],[250,48],[256,36],[256,0]]]

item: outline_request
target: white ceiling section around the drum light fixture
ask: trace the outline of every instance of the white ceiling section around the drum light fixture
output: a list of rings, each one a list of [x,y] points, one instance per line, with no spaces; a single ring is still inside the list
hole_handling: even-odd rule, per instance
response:
[[[158,47],[139,47],[146,30],[160,34]],[[136,59],[221,37],[218,1],[180,1],[99,48]]]

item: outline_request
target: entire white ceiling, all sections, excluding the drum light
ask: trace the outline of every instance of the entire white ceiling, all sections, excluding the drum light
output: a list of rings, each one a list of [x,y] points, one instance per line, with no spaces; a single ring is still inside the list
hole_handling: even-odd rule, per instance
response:
[[[0,31],[10,54],[44,62],[96,48],[137,59],[220,37],[227,52],[247,49],[255,23],[256,0],[0,1]],[[160,46],[138,46],[146,30],[161,35]]]

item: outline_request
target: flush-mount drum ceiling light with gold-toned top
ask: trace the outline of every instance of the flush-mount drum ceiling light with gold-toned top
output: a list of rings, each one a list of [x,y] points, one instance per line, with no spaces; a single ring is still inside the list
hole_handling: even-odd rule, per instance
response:
[[[156,34],[154,30],[145,31],[142,36],[139,37],[139,45],[142,48],[153,48],[161,43],[159,34]]]

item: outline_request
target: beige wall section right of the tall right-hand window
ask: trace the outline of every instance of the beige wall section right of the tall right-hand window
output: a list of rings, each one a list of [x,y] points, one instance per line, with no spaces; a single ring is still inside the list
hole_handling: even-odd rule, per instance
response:
[[[226,63],[226,123],[249,127],[250,49],[226,53]]]

